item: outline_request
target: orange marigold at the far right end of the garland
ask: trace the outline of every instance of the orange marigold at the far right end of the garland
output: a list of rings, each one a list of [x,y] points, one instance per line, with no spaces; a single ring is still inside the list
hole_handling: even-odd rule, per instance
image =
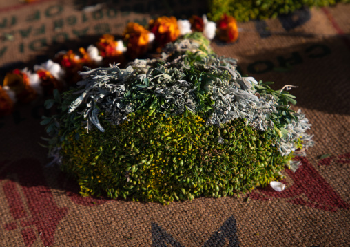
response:
[[[224,14],[218,21],[218,39],[227,43],[234,42],[238,39],[237,21],[234,17]]]

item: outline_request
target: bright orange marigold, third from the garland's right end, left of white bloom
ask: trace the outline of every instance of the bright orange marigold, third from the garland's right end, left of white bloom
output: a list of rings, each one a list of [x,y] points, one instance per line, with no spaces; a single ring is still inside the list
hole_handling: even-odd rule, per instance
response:
[[[150,31],[154,33],[158,48],[169,42],[174,42],[180,34],[175,17],[158,17],[150,21]]]

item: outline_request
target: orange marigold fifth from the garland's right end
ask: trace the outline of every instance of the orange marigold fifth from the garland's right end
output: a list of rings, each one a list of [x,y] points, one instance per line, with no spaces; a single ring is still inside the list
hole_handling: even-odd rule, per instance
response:
[[[114,36],[104,34],[96,43],[102,57],[121,56],[123,54],[123,42],[115,41]]]

